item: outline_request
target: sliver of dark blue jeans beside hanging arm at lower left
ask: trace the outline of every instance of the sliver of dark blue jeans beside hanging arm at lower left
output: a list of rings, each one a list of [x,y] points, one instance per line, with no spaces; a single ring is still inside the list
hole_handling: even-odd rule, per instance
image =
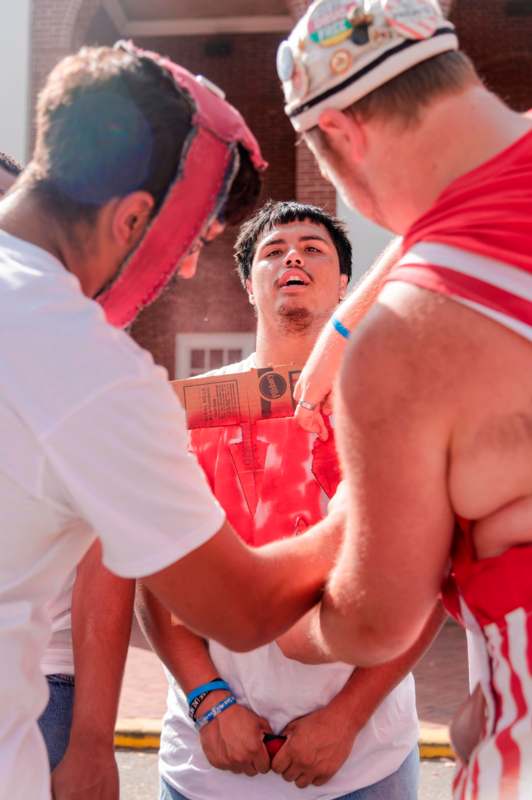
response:
[[[70,738],[74,708],[74,676],[47,675],[46,680],[50,699],[39,719],[39,728],[48,751],[51,772],[65,755]]]

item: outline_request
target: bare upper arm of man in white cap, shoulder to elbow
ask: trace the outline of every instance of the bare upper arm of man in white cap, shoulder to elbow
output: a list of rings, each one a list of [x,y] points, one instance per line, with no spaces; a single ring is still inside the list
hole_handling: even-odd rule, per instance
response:
[[[370,312],[342,368],[348,524],[318,622],[336,657],[366,665],[411,646],[439,595],[454,529],[451,432],[460,376],[471,371],[464,338],[449,326],[454,308],[402,285],[383,297],[392,307]]]

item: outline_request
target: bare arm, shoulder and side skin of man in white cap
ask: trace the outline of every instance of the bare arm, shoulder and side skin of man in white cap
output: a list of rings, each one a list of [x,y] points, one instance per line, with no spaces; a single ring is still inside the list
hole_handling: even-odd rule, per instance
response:
[[[390,657],[417,635],[455,515],[477,521],[482,555],[481,538],[506,535],[505,522],[525,539],[532,530],[529,364],[524,339],[403,284],[386,286],[357,331],[337,414],[349,525],[321,620],[345,660]]]

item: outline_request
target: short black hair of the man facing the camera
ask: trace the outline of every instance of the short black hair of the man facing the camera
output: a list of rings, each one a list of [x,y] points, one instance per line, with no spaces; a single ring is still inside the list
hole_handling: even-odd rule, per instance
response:
[[[295,200],[268,200],[251,219],[242,225],[235,242],[237,271],[244,286],[251,272],[257,241],[262,234],[271,230],[275,225],[306,221],[323,225],[328,231],[338,253],[340,273],[347,275],[348,279],[351,278],[351,243],[347,238],[345,226],[339,219],[327,214],[322,208],[307,203],[298,203]]]

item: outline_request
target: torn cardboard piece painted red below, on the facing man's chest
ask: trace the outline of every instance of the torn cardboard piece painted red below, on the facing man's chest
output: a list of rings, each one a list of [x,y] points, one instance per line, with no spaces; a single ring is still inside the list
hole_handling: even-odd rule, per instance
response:
[[[284,514],[286,524],[279,519],[275,525],[290,535],[303,526],[298,515],[308,524],[321,518],[319,492],[331,497],[338,484],[330,426],[322,442],[293,419],[300,373],[300,367],[281,365],[173,382],[187,414],[191,450],[233,526],[255,544],[267,535],[266,505]]]

